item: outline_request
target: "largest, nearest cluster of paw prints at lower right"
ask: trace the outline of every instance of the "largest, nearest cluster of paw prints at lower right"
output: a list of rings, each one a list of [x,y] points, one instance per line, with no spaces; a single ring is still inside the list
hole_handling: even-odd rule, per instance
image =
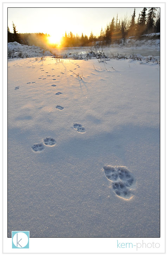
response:
[[[112,188],[116,195],[130,199],[131,189],[135,183],[133,175],[124,166],[104,166],[105,176],[108,180],[112,181]]]

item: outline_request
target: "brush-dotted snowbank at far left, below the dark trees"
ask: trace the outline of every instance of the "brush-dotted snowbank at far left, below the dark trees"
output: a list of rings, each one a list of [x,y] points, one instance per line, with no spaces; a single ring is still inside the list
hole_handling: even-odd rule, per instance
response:
[[[8,43],[8,58],[28,58],[51,56],[50,51],[45,51],[38,46],[28,46],[17,42]]]

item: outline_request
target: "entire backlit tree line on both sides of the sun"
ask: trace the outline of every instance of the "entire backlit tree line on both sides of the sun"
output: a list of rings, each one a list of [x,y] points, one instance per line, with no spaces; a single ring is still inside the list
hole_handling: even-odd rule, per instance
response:
[[[138,14],[136,19],[136,9],[131,15],[131,19],[124,17],[123,19],[118,19],[118,14],[116,19],[113,17],[111,22],[100,31],[99,36],[94,36],[93,32],[90,36],[87,35],[73,35],[72,32],[66,33],[62,37],[61,45],[62,47],[73,47],[73,46],[90,46],[93,43],[98,43],[100,45],[108,45],[116,42],[117,40],[128,37],[141,38],[144,34],[157,33],[160,32],[160,12],[158,8],[143,8],[143,10]],[[44,33],[18,33],[16,31],[16,26],[14,23],[13,33],[9,31],[8,28],[8,42],[18,42],[27,45],[36,45],[40,47],[47,46],[46,37],[50,36]],[[52,45],[53,47],[56,45]]]

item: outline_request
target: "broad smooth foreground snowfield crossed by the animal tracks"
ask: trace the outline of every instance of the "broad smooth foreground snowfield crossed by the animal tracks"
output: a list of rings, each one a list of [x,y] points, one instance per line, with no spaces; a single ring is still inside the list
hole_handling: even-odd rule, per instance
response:
[[[8,237],[159,237],[159,99],[156,63],[9,60]]]

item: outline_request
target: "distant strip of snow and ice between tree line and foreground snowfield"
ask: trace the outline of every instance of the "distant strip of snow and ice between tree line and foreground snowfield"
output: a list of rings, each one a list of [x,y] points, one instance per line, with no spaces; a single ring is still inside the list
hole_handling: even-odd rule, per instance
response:
[[[152,34],[149,34],[152,35]],[[130,57],[130,55],[136,54],[142,58],[148,56],[154,56],[158,61],[160,61],[160,39],[143,39],[138,40],[134,38],[126,38],[119,40],[119,43],[114,43],[108,46],[98,46],[99,50],[105,53],[108,57],[113,57],[116,55],[125,55]],[[72,47],[72,48],[60,48],[60,49],[50,49],[44,50],[38,46],[28,46],[24,44],[19,44],[17,42],[8,43],[8,58],[15,57],[44,57],[52,56],[56,54],[57,56],[63,56],[64,58],[72,59],[85,59],[89,53],[91,47]],[[94,49],[94,46],[92,47]],[[52,52],[52,54],[51,54]]]

